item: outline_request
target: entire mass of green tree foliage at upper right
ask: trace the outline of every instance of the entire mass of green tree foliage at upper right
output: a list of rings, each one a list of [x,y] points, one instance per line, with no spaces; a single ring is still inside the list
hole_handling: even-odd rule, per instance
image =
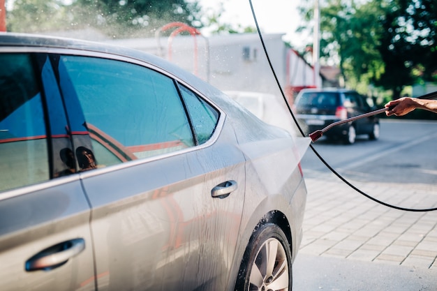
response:
[[[373,84],[397,98],[405,86],[437,80],[435,0],[322,0],[320,6],[320,56],[338,59],[350,87]],[[309,22],[312,11],[302,6]]]

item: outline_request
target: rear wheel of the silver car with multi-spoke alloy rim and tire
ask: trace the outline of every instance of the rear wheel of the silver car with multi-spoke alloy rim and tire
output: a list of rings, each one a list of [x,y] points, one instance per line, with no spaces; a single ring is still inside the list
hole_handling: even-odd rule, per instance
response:
[[[252,234],[235,290],[292,290],[290,244],[279,226],[273,223],[260,225]]]

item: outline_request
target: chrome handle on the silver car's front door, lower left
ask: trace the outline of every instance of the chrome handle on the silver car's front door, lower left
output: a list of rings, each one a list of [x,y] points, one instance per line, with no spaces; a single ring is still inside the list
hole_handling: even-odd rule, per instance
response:
[[[50,270],[65,264],[85,249],[84,239],[71,239],[40,251],[26,262],[26,271]]]

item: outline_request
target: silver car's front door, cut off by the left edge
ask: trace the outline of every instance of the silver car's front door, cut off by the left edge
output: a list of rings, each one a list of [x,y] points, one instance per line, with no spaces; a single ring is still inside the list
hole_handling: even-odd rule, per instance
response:
[[[45,54],[5,51],[0,290],[95,290],[90,207],[71,172],[74,161],[68,162],[71,136],[50,61]]]

